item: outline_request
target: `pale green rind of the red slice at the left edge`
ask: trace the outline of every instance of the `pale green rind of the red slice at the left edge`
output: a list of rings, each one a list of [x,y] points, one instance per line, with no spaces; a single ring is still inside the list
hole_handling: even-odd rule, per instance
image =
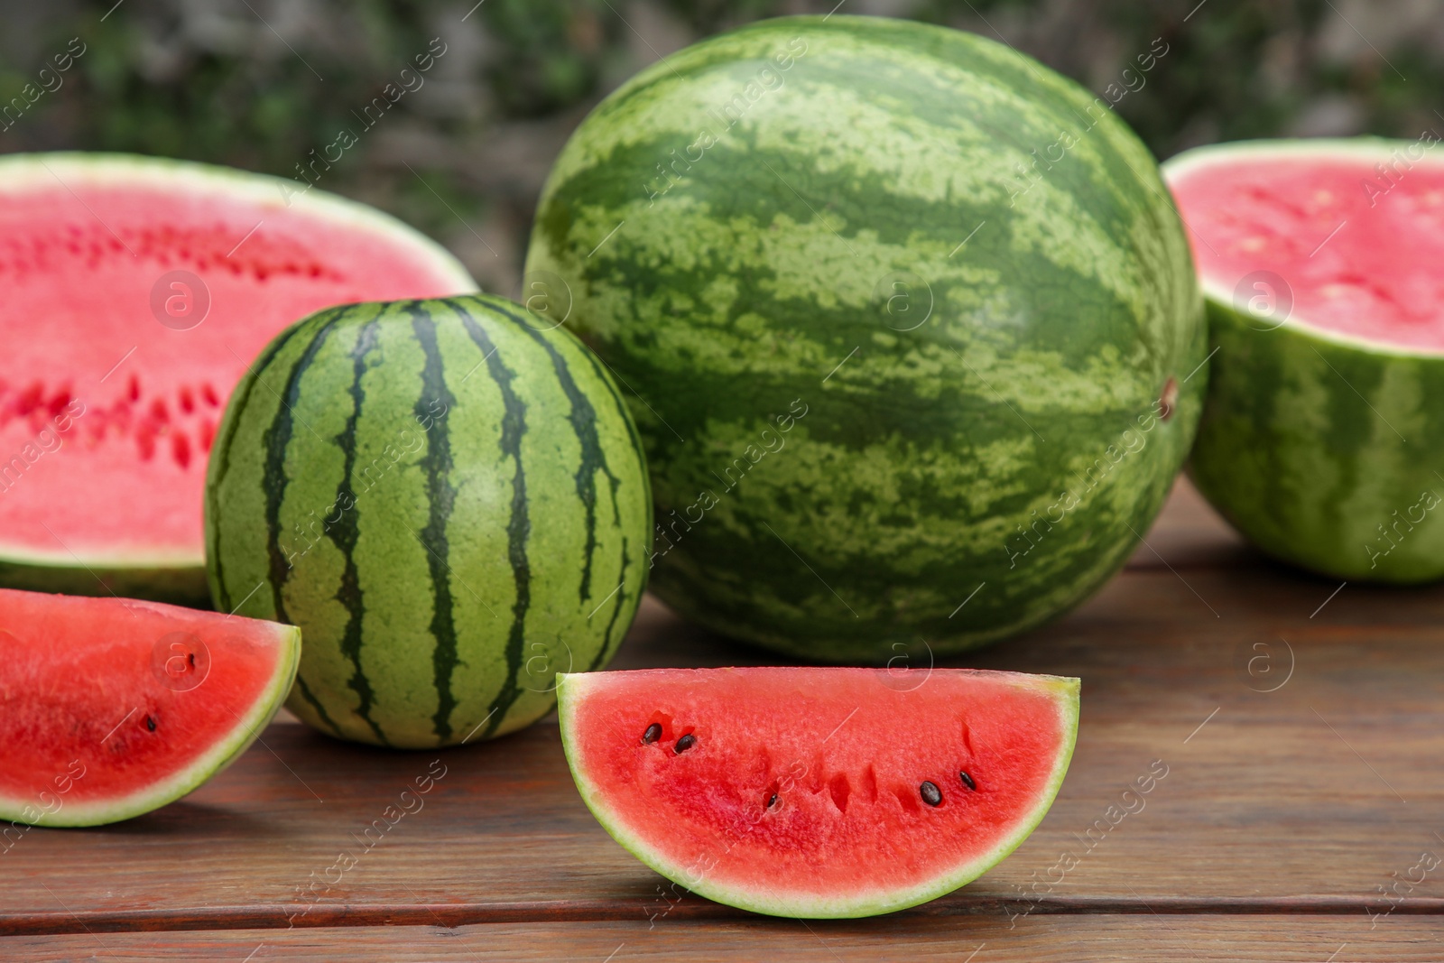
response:
[[[146,602],[133,602],[144,606]],[[35,820],[25,820],[26,807],[35,809],[35,800],[7,800],[0,797],[0,820],[25,823],[32,826],[78,827],[105,826],[126,819],[143,816],[160,809],[208,783],[218,772],[235,762],[260,738],[261,729],[270,725],[271,719],[286,702],[292,681],[296,679],[296,668],[300,666],[300,629],[293,625],[274,625],[276,642],[280,658],[276,668],[260,696],[251,703],[250,710],[237,720],[235,726],[205,751],[198,759],[183,770],[160,780],[139,793],[131,793],[116,800],[87,800],[77,801],[61,794],[61,807],[52,813],[42,813]],[[201,683],[191,693],[196,699],[205,697],[205,683]]]

